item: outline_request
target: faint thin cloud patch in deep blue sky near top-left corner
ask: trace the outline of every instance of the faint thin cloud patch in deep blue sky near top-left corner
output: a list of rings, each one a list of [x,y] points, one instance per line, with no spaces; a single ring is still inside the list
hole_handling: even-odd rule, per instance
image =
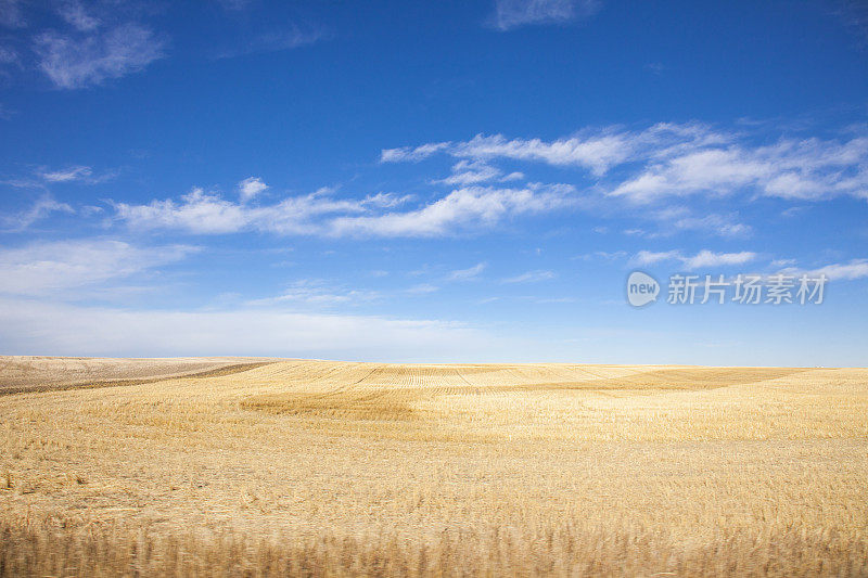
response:
[[[54,30],[36,37],[39,68],[58,88],[78,89],[141,70],[164,54],[164,42],[138,24],[90,35]]]

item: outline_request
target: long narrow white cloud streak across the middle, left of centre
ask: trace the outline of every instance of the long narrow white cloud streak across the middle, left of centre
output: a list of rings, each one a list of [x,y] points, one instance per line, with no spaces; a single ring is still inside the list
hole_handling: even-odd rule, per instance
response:
[[[525,189],[458,189],[421,208],[383,213],[409,196],[378,193],[362,200],[336,200],[331,191],[294,196],[268,206],[247,206],[193,189],[180,202],[115,204],[116,218],[141,229],[176,229],[216,234],[256,230],[278,234],[326,236],[441,236],[473,231],[523,214],[570,206],[574,189],[528,185]]]

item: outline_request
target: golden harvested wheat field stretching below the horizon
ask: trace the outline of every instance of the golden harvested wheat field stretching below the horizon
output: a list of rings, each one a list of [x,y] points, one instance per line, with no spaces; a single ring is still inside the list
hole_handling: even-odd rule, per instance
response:
[[[4,358],[0,387],[2,575],[868,575],[864,369]]]

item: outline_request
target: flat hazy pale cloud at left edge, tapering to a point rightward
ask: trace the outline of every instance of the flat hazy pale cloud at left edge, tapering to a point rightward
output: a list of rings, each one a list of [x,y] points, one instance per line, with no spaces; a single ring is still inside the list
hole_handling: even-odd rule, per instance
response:
[[[175,262],[195,251],[184,245],[136,247],[111,240],[0,248],[0,293],[59,294]]]

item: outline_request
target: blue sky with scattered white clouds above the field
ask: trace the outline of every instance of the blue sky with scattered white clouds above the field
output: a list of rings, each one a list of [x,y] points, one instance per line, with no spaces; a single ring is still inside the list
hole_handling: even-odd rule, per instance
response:
[[[868,362],[863,3],[179,4],[0,0],[1,352]]]

